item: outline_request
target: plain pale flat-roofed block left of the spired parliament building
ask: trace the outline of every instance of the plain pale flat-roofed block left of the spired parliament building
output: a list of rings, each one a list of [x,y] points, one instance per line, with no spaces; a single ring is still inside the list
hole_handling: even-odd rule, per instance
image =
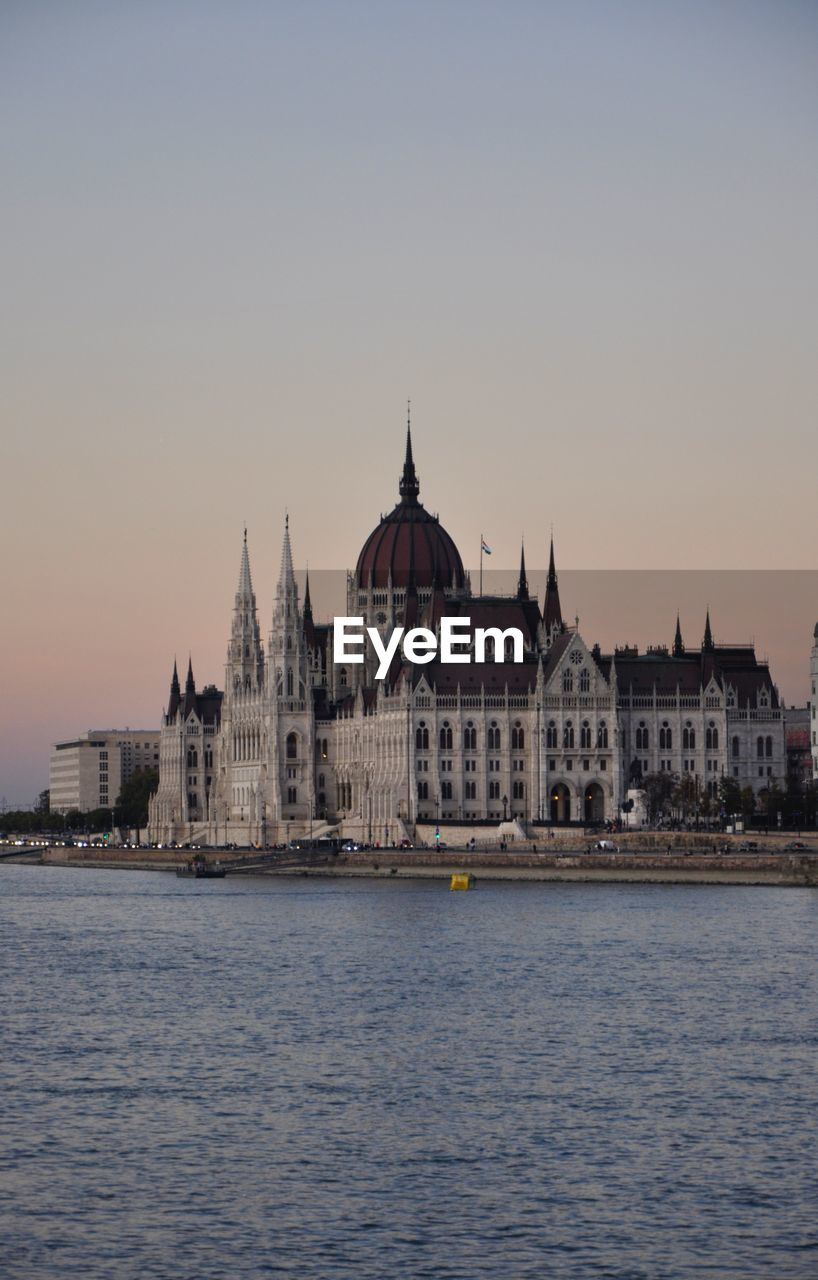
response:
[[[51,812],[113,806],[133,773],[159,768],[159,746],[155,728],[87,730],[68,742],[55,742],[49,760]]]

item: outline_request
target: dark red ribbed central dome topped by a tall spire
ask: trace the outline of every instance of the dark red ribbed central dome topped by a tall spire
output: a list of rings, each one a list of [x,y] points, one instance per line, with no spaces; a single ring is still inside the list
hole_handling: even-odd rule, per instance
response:
[[[406,461],[401,476],[401,500],[369,535],[355,571],[358,588],[402,589],[438,586],[462,589],[463,562],[457,547],[440,525],[417,500],[420,484],[412,461],[412,435],[406,431]]]

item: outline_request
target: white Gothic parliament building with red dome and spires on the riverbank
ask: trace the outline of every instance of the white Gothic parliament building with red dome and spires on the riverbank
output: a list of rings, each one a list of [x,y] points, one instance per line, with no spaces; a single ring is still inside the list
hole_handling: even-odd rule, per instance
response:
[[[612,820],[652,773],[695,780],[713,800],[734,777],[758,794],[786,776],[782,707],[751,645],[717,645],[709,612],[689,648],[604,654],[562,618],[553,540],[544,598],[472,595],[460,552],[419,499],[407,429],[399,500],[347,575],[347,614],[384,640],[442,617],[471,630],[517,628],[522,662],[485,653],[467,666],[396,654],[333,660],[333,625],[300,596],[284,525],[266,649],[247,535],[227,648],[224,690],[182,687],[174,664],[163,716],[155,841],[268,845],[312,832],[375,844],[412,840],[417,822]],[[489,640],[490,644],[490,640]],[[474,653],[471,655],[474,658]],[[445,835],[445,832],[444,832]]]

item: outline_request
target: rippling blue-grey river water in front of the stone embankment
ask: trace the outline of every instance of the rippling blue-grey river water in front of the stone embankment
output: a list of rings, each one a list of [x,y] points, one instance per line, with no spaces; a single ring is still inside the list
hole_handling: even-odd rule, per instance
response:
[[[818,895],[0,868],[0,1272],[818,1275]]]

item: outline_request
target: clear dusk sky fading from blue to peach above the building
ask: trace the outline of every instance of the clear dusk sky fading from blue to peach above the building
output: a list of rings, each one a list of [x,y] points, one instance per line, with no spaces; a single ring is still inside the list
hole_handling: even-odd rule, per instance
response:
[[[285,509],[353,567],[410,397],[470,564],[815,570],[817,69],[791,0],[6,0],[0,796],[220,682],[245,525],[262,632]],[[721,632],[803,701],[786,581]]]

